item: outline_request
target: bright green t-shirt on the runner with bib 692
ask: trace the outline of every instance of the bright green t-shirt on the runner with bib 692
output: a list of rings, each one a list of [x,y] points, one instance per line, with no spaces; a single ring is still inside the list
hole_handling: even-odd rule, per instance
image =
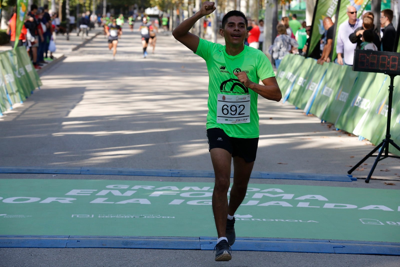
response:
[[[222,44],[204,39],[200,39],[195,54],[206,60],[209,75],[206,128],[221,128],[230,137],[259,137],[258,94],[240,83],[232,72],[244,71],[256,83],[274,77],[266,55],[244,46],[240,54],[230,56]]]

